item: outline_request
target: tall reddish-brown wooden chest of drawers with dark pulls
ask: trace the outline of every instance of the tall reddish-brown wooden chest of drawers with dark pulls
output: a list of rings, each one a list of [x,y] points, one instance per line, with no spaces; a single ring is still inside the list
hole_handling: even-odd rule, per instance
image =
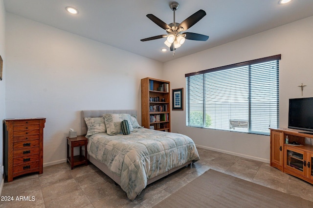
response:
[[[43,173],[45,118],[5,120],[4,174],[7,182],[22,174]]]

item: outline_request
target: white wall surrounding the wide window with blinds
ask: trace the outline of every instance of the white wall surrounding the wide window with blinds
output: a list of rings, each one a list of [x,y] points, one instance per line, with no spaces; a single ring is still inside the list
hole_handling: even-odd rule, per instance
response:
[[[288,126],[288,99],[301,97],[298,85],[307,85],[303,97],[313,97],[313,17],[233,41],[164,64],[171,88],[186,89],[185,74],[256,58],[281,54],[279,69],[280,127]],[[210,39],[208,39],[210,41]],[[183,46],[182,46],[183,47]],[[186,106],[184,106],[185,109]],[[185,111],[172,111],[172,132],[190,136],[207,149],[269,161],[269,136],[190,128]]]

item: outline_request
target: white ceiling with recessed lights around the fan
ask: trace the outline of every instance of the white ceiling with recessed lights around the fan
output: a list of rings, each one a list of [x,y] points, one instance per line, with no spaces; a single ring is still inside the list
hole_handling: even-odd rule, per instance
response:
[[[167,24],[173,22],[172,0],[4,0],[7,12],[32,19],[73,34],[90,38],[143,57],[166,62],[230,41],[313,16],[313,0],[177,0],[176,22],[199,9],[206,16],[186,32],[200,33],[207,41],[186,40],[173,52],[165,38],[141,42],[142,38],[166,34],[146,17],[153,14]],[[79,10],[67,13],[67,6]],[[296,37],[295,37],[296,38]]]

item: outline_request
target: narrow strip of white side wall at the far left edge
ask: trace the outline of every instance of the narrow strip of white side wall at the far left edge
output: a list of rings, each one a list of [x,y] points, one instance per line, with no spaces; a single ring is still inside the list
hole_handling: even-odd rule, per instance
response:
[[[3,73],[0,81],[0,120],[3,123],[5,119],[5,74],[6,74],[6,58],[5,58],[5,9],[3,0],[0,0],[0,56],[3,59]],[[3,128],[0,127],[0,168],[3,165]],[[3,186],[3,175],[0,169],[0,195]]]

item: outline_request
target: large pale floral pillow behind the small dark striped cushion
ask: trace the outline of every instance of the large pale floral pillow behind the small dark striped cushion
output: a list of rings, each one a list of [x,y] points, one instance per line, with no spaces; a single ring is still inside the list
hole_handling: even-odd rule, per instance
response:
[[[123,120],[128,121],[129,131],[134,132],[134,128],[131,123],[131,115],[127,113],[107,113],[103,114],[104,122],[107,127],[107,133],[114,135],[122,132],[121,122]]]

